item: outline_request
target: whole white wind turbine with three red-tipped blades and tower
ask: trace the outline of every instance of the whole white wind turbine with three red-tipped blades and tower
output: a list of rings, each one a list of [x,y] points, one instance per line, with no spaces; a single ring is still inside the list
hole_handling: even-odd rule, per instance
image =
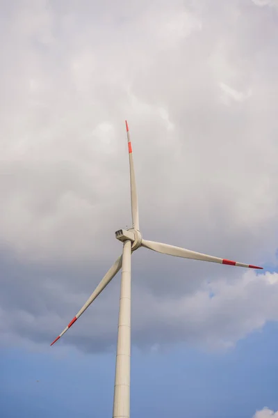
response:
[[[256,268],[256,265],[238,263],[236,261],[227,260],[208,256],[189,249],[174,247],[173,245],[162,244],[161,242],[147,241],[142,239],[139,228],[138,215],[138,199],[136,192],[136,181],[133,166],[133,156],[131,140],[129,136],[129,125],[126,122],[127,145],[129,149],[129,171],[131,185],[131,215],[132,228],[125,230],[120,229],[115,232],[117,240],[123,242],[122,255],[115,261],[110,270],[105,274],[95,291],[90,295],[89,299],[80,311],[70,321],[65,330],[57,336],[51,343],[51,346],[67,332],[67,330],[75,323],[75,321],[90,306],[95,298],[101,293],[108,283],[113,279],[115,274],[122,268],[121,292],[120,292],[120,311],[117,334],[117,357],[115,369],[115,388],[113,401],[113,418],[129,418],[130,416],[130,357],[131,357],[131,254],[140,247],[145,247],[169,256],[177,256],[183,258],[192,258],[193,260],[211,261],[213,263],[236,265],[238,267]]]

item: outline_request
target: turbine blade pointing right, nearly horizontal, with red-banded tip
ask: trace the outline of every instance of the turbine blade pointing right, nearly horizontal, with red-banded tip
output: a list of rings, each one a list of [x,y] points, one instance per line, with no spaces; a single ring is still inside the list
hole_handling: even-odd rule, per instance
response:
[[[141,245],[142,247],[146,247],[146,248],[152,249],[153,251],[157,251],[162,254],[167,254],[169,256],[192,258],[193,260],[201,260],[201,261],[211,261],[212,263],[236,265],[238,267],[263,269],[262,267],[257,267],[256,265],[238,263],[237,261],[227,260],[226,258],[207,256],[206,254],[197,253],[196,251],[190,251],[190,249],[174,247],[173,245],[162,244],[161,242],[142,240]]]

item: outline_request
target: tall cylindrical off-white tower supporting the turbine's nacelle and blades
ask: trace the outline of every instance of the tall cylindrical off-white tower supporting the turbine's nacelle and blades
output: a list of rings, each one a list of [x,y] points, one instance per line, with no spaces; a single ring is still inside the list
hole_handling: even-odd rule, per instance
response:
[[[130,357],[131,357],[131,241],[124,241],[122,250],[122,280],[113,418],[130,416]]]

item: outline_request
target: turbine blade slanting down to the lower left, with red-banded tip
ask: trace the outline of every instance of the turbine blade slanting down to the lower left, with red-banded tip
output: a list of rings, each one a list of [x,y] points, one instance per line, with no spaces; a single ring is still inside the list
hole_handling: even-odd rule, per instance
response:
[[[90,295],[87,302],[85,302],[85,304],[80,309],[80,311],[70,321],[69,325],[65,327],[65,330],[63,330],[63,332],[61,332],[60,335],[58,335],[57,338],[54,339],[54,341],[50,344],[51,346],[53,346],[53,344],[56,343],[56,341],[58,341],[58,339],[60,339],[60,337],[63,334],[65,334],[65,332],[67,332],[67,330],[75,323],[75,321],[79,318],[79,316],[83,314],[83,312],[90,306],[90,304],[95,300],[95,298],[99,295],[99,293],[101,293],[104,290],[104,288],[108,285],[108,283],[113,279],[113,277],[117,274],[117,272],[120,270],[121,267],[122,267],[122,255],[119,258],[117,258],[117,260],[112,265],[112,267],[108,270],[108,272],[105,274],[104,278],[101,280],[101,282],[99,283],[95,291],[92,293],[92,295]]]

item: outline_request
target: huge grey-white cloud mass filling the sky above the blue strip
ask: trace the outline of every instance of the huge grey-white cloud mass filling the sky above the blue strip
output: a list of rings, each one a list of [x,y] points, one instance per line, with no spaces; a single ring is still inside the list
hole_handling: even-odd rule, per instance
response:
[[[5,5],[1,341],[51,342],[120,253],[114,232],[131,222],[126,118],[146,239],[277,265],[276,26],[250,1],[226,6]],[[66,343],[115,342],[119,279]],[[273,300],[274,279],[140,249],[134,341],[232,346],[277,319],[259,297]]]

